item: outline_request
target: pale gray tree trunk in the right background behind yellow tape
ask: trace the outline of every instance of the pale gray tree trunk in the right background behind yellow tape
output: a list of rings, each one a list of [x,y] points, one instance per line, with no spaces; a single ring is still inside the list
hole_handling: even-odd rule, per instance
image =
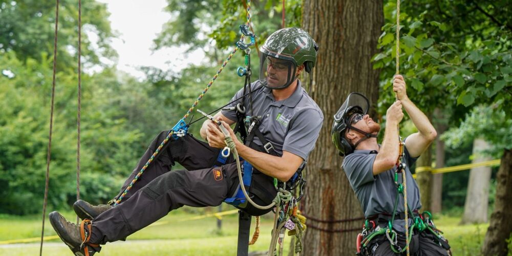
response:
[[[473,163],[491,160],[489,156],[482,154],[483,151],[489,148],[490,145],[485,140],[475,139],[473,141]],[[487,222],[490,174],[491,169],[489,166],[471,169],[461,224]]]

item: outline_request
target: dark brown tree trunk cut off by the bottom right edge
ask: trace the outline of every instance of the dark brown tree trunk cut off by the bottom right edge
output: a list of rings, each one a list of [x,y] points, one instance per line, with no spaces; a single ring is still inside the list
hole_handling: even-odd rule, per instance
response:
[[[512,235],[512,150],[504,150],[496,180],[494,211],[485,234],[482,255],[506,256],[506,240]]]

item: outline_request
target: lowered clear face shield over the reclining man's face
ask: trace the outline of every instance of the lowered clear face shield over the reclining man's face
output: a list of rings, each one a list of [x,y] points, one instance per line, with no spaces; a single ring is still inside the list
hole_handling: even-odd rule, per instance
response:
[[[292,60],[262,53],[260,59],[260,82],[270,89],[287,88],[295,80],[297,67]]]

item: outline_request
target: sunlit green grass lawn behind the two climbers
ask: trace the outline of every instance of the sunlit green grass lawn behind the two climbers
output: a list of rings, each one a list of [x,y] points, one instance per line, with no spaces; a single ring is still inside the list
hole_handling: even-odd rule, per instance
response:
[[[224,207],[224,209],[234,208]],[[71,211],[64,212],[64,215],[68,220],[76,218]],[[238,215],[224,216],[221,232],[217,230],[215,217],[185,220],[199,215],[200,213],[190,214],[182,210],[171,212],[156,224],[132,234],[126,242],[119,241],[103,246],[99,255],[236,255]],[[55,236],[48,218],[46,219],[45,236]],[[459,221],[460,217],[442,215],[435,219],[436,225],[449,239],[454,255],[479,255],[488,224],[460,226]],[[260,238],[255,245],[249,246],[249,251],[268,249],[271,225],[272,219],[262,219]],[[254,222],[251,226],[251,234],[253,230]],[[0,216],[0,255],[37,255],[40,236],[40,216]],[[37,240],[31,243],[2,243],[2,241],[27,238],[37,238]],[[290,241],[290,237],[285,238],[285,255],[288,254]],[[68,247],[58,238],[45,241],[43,253],[45,255],[71,254]]]

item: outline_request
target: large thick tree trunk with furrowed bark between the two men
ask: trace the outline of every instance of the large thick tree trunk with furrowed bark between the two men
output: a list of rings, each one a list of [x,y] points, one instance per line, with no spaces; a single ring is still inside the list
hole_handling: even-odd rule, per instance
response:
[[[332,116],[350,92],[378,99],[379,71],[372,69],[383,25],[381,1],[306,0],[302,27],[318,42],[311,96],[324,111],[324,125],[309,157],[304,213],[310,218],[303,255],[353,255],[362,220],[361,206],[340,167],[343,158],[331,140]],[[371,113],[375,113],[374,108]],[[322,230],[323,229],[323,230]],[[327,230],[327,231],[326,231]],[[342,231],[352,230],[352,231]]]

